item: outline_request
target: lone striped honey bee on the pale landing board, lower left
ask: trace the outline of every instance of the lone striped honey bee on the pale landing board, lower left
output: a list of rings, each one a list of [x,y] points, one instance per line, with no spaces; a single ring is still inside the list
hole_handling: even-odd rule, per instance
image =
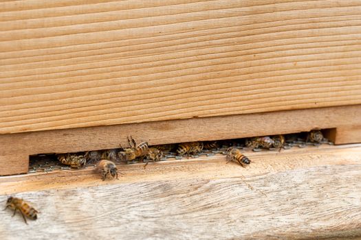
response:
[[[12,217],[14,217],[15,213],[17,213],[17,210],[19,210],[19,212],[23,216],[25,224],[28,224],[25,216],[32,220],[36,220],[38,218],[37,213],[39,213],[39,211],[36,211],[36,209],[30,206],[28,202],[25,202],[18,197],[8,197],[8,201],[6,202],[6,208],[14,209],[14,214],[12,215]],[[4,208],[4,211],[6,210],[6,208]]]

